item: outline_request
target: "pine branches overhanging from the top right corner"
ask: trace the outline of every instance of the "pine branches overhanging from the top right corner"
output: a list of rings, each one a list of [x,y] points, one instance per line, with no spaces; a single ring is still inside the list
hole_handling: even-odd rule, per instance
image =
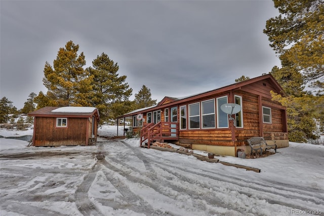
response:
[[[324,90],[324,4],[322,0],[274,0],[280,15],[263,30],[283,67],[296,68],[305,82]]]

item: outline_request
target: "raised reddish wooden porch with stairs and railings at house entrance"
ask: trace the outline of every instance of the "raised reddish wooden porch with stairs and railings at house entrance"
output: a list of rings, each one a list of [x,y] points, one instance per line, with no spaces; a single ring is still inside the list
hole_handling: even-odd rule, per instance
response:
[[[140,131],[140,147],[150,148],[153,141],[178,140],[179,123],[178,122],[158,122],[143,124]],[[144,145],[143,145],[144,142]],[[147,145],[146,145],[147,143]]]

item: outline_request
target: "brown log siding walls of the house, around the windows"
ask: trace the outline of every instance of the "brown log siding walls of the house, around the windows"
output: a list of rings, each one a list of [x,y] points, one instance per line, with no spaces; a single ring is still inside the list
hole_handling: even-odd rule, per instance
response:
[[[207,97],[178,103],[178,122],[180,122],[180,107],[186,106],[186,129],[179,130],[178,141],[173,141],[179,145],[191,147],[196,145],[208,146],[227,146],[237,147],[247,145],[247,139],[253,136],[263,136],[266,140],[288,140],[287,122],[286,122],[286,107],[281,106],[278,102],[271,100],[270,91],[275,91],[275,88],[267,80],[252,83],[251,85],[243,86],[237,89],[220,92],[218,94]],[[276,91],[275,91],[276,92]],[[228,128],[217,128],[217,105],[218,97],[228,96],[228,102],[234,102],[234,96],[242,97],[242,112],[243,112],[243,127],[233,127],[233,122],[229,121]],[[201,101],[215,99],[215,129],[189,129],[188,126],[188,105],[199,102],[201,109]],[[163,104],[169,101],[164,101]],[[164,121],[165,109],[169,109],[169,121],[171,118],[170,107],[162,107],[156,110],[161,111],[161,121]],[[262,106],[271,108],[271,123],[263,123]],[[152,111],[150,111],[152,112]],[[146,113],[143,113],[146,118]],[[201,124],[201,110],[200,110]],[[136,128],[134,128],[136,130]]]

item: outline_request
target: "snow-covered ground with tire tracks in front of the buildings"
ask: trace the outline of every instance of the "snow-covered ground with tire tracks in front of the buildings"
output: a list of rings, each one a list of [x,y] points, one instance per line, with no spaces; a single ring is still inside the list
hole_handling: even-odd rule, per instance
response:
[[[0,135],[32,135],[32,130],[0,129]],[[114,136],[116,127],[103,127],[99,135]],[[89,147],[27,145],[27,141],[0,139],[0,215],[324,212],[324,146],[290,142],[289,148],[266,158],[218,157],[260,168],[257,173],[139,148],[138,139],[99,138],[96,146]]]

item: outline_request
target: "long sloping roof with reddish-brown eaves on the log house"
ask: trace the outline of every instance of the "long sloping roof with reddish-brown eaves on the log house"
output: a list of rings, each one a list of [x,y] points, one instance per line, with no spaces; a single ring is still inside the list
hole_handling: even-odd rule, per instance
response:
[[[224,87],[214,89],[214,90],[210,90],[210,91],[207,91],[207,92],[197,93],[197,94],[194,94],[194,95],[189,95],[189,96],[184,96],[184,97],[168,97],[168,96],[166,96],[154,106],[134,110],[134,111],[132,111],[130,113],[127,113],[127,114],[125,114],[123,116],[120,116],[118,118],[127,117],[127,116],[131,116],[131,115],[136,115],[136,114],[141,113],[142,111],[145,111],[145,112],[154,111],[154,110],[156,110],[155,109],[156,107],[159,107],[160,109],[162,109],[162,108],[167,107],[167,106],[177,105],[178,103],[199,99],[201,97],[206,97],[206,96],[210,96],[210,95],[213,95],[213,94],[217,94],[217,93],[221,93],[221,92],[225,92],[225,91],[230,91],[230,90],[234,90],[234,89],[240,89],[241,87],[248,86],[250,84],[253,84],[253,83],[256,83],[256,82],[259,82],[259,81],[263,81],[263,80],[267,80],[269,83],[271,83],[273,88],[279,94],[285,95],[284,89],[282,89],[282,87],[272,77],[272,75],[266,74],[266,75],[262,75],[260,77],[252,78],[252,79],[249,79],[249,80],[246,80],[246,81],[242,81],[242,82],[239,82],[239,83],[234,83],[234,84],[231,84],[231,85],[228,85],[228,86],[224,86]],[[169,100],[169,102],[164,103],[167,100]]]

